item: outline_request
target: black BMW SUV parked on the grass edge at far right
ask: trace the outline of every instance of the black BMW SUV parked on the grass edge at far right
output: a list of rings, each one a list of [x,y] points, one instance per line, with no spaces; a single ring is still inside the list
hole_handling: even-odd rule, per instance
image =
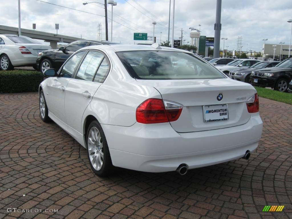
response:
[[[286,92],[292,79],[292,58],[280,62],[272,68],[264,68],[251,72],[251,84],[271,87],[276,91]]]

